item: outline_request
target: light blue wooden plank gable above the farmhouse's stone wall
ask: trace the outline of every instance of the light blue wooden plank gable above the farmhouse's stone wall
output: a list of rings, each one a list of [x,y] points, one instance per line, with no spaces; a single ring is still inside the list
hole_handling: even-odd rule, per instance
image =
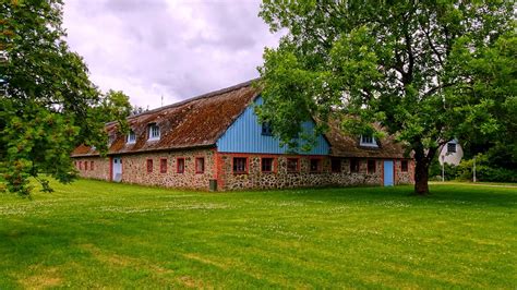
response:
[[[261,105],[262,97],[255,99],[255,104]],[[314,130],[314,122],[304,122],[302,124],[304,132]],[[288,153],[287,146],[281,147],[280,141],[274,136],[262,134],[262,124],[254,112],[252,105],[245,108],[244,112],[228,128],[228,130],[217,141],[218,152],[225,153],[260,153],[260,154],[285,154]],[[317,136],[317,144],[310,152],[298,150],[304,155],[328,155],[330,145],[323,137]]]

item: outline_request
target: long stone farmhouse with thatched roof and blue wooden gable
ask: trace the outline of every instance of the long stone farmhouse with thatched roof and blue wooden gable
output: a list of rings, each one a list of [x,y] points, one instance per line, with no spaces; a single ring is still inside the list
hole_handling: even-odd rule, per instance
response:
[[[251,82],[108,123],[108,157],[72,153],[81,177],[199,190],[394,185],[413,182],[413,161],[393,136],[348,136],[332,126],[310,152],[288,150],[258,123]],[[314,130],[313,122],[302,125]]]

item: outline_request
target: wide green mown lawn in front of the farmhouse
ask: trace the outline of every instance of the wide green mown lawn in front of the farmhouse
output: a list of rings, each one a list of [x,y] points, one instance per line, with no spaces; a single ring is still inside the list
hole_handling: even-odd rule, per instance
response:
[[[0,194],[0,289],[517,286],[516,188]]]

